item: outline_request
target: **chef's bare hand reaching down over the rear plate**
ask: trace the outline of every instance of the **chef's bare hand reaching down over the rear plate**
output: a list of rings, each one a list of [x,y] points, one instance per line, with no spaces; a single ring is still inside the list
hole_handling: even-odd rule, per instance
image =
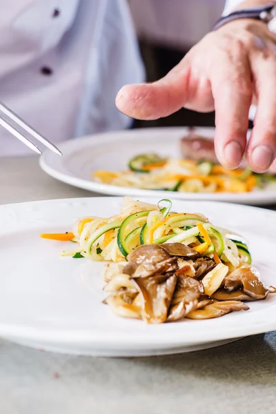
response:
[[[252,101],[258,108],[246,147]],[[265,172],[276,157],[276,35],[262,21],[232,21],[207,34],[164,78],[121,88],[116,105],[136,119],[167,117],[182,107],[215,109],[221,164],[237,168],[246,152],[250,168]]]

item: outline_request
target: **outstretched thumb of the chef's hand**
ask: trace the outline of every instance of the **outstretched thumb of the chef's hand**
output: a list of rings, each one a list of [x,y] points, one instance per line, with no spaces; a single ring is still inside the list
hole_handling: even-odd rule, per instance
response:
[[[168,117],[187,101],[189,72],[188,66],[179,64],[159,81],[123,86],[117,94],[116,106],[135,119]]]

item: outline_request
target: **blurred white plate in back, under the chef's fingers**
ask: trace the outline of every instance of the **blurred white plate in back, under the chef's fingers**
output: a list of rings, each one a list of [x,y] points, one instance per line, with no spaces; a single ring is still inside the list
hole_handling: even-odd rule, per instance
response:
[[[199,134],[213,138],[214,128],[197,128]],[[141,190],[99,184],[92,179],[96,170],[125,170],[128,161],[141,152],[157,152],[164,157],[179,157],[179,139],[188,128],[146,128],[92,135],[66,141],[59,146],[63,157],[50,150],[41,155],[41,168],[52,177],[85,190],[109,195],[135,195],[173,199],[206,199],[239,204],[264,205],[276,201],[276,186],[251,193],[176,193]]]

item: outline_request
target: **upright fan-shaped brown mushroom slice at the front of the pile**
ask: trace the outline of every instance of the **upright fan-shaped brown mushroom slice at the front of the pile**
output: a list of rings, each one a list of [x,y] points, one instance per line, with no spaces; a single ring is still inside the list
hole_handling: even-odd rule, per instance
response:
[[[166,321],[168,309],[175,292],[177,275],[157,275],[133,279],[142,298],[141,317],[148,324],[162,324]]]

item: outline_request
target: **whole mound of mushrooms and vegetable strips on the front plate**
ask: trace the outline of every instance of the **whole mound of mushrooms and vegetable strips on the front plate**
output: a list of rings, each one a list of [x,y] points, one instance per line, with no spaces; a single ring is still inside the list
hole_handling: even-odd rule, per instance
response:
[[[244,302],[276,292],[259,278],[241,236],[202,214],[171,208],[168,199],[148,204],[126,197],[119,214],[83,217],[72,233],[41,237],[78,245],[61,256],[109,262],[104,303],[148,324],[247,311]]]

